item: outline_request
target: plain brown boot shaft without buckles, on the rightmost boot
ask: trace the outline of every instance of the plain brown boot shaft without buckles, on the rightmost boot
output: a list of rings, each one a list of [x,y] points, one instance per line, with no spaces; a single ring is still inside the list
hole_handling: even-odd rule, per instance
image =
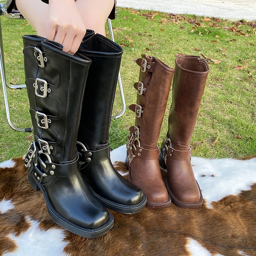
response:
[[[168,120],[168,137],[173,147],[190,144],[209,70],[207,60],[199,56],[180,56],[175,60]]]

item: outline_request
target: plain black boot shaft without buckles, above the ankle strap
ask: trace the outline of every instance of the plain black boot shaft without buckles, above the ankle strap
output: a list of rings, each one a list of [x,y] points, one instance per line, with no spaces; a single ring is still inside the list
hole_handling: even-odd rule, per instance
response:
[[[108,144],[122,48],[96,34],[82,42],[79,53],[90,58],[92,65],[86,82],[78,141],[91,150]],[[102,148],[102,147],[101,147]]]

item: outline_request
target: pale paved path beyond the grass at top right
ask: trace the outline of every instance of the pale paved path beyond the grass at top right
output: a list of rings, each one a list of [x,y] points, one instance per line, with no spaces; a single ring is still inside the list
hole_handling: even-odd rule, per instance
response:
[[[117,6],[174,14],[256,20],[256,0],[117,0]]]

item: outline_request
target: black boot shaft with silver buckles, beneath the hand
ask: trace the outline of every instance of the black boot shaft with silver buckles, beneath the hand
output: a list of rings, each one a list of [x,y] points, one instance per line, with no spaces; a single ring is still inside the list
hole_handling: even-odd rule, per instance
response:
[[[37,36],[23,36],[23,40],[36,147],[56,164],[72,161],[92,61],[64,53],[62,45]]]

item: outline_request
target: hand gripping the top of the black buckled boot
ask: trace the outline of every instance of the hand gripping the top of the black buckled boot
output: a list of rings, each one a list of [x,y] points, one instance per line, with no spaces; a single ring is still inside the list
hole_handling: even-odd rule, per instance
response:
[[[63,52],[76,53],[86,27],[74,0],[49,0],[46,38],[63,45]]]

